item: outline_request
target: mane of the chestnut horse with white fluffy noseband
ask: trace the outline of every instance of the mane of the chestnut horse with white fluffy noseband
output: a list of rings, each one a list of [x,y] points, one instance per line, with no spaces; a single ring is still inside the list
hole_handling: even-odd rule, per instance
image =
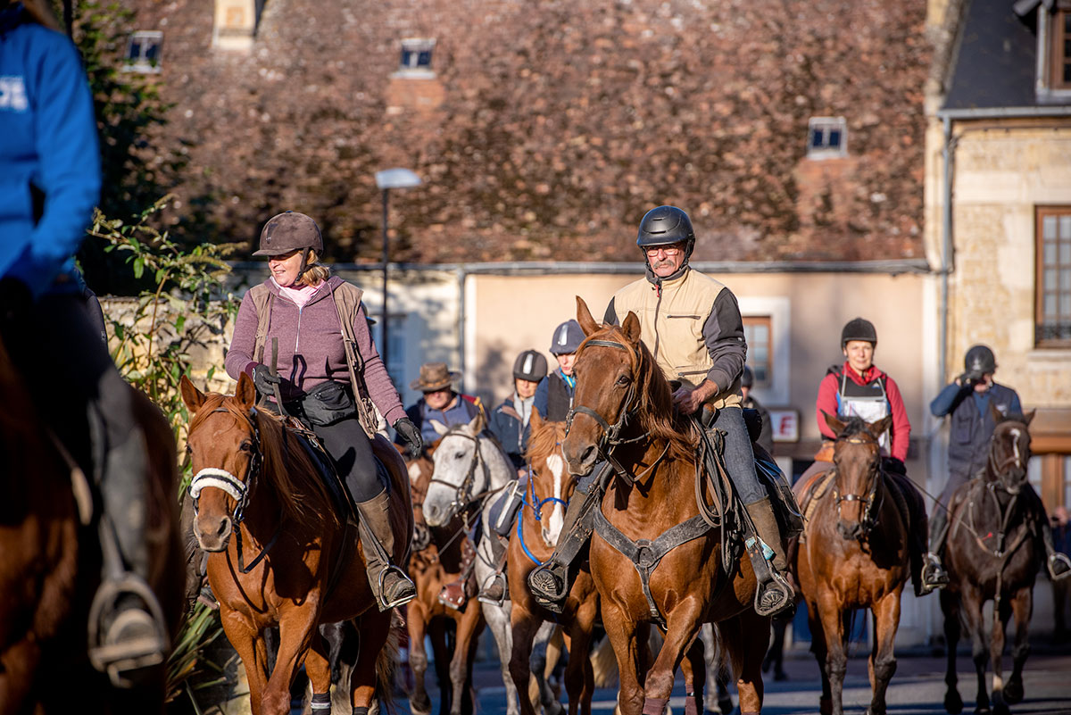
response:
[[[205,396],[205,405],[191,421],[190,431],[218,409],[233,415],[239,424],[245,424],[250,420],[250,412],[236,398],[209,393]],[[338,515],[331,506],[331,496],[320,480],[318,468],[305,447],[298,443],[297,436],[283,425],[282,417],[268,410],[254,410],[253,419],[260,431],[260,451],[263,455],[261,475],[274,489],[283,517],[303,523],[317,518],[337,523]]]

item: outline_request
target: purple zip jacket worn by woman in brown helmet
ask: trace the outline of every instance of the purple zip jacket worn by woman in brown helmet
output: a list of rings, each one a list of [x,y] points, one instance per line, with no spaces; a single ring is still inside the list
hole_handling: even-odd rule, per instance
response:
[[[320,284],[303,307],[298,307],[283,294],[271,278],[263,283],[275,295],[265,344],[265,358],[266,362],[270,362],[272,338],[278,338],[276,367],[280,377],[284,379],[281,385],[284,400],[296,399],[328,380],[349,384],[342,323],[338,322],[338,309],[332,296],[332,291],[343,283],[338,276],[331,276]],[[242,372],[252,376],[253,368],[259,364],[253,355],[256,334],[257,309],[246,292],[238,308],[235,334],[224,361],[227,375],[236,380]],[[393,425],[405,416],[405,410],[387,374],[382,358],[372,341],[364,304],[361,304],[353,319],[353,337],[364,363],[364,384],[368,389],[368,397],[387,423]]]

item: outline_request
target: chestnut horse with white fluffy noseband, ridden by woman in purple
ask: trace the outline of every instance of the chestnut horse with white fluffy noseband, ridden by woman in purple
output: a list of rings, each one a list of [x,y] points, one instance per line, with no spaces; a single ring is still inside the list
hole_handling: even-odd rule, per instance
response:
[[[290,683],[302,663],[313,691],[329,694],[331,668],[318,626],[350,619],[361,634],[351,705],[368,708],[377,694],[390,698],[383,688],[394,656],[384,648],[391,611],[376,607],[357,528],[342,522],[301,438],[254,407],[247,375],[233,396],[202,393],[186,378],[181,390],[193,415],[186,450],[191,496],[198,499],[194,532],[209,551],[209,583],[224,633],[245,666],[254,715],[290,712]],[[405,463],[382,437],[373,448],[390,474],[394,543],[407,553],[412,509]],[[274,625],[280,645],[269,674],[261,633]]]

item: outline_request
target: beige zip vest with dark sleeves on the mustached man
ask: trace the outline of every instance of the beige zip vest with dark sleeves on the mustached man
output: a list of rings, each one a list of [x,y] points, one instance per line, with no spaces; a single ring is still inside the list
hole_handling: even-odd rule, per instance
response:
[[[680,277],[648,276],[629,284],[614,294],[605,320],[619,325],[630,310],[639,318],[639,335],[667,380],[697,385],[709,379],[721,392],[708,405],[740,405],[748,344],[733,291],[688,269]]]

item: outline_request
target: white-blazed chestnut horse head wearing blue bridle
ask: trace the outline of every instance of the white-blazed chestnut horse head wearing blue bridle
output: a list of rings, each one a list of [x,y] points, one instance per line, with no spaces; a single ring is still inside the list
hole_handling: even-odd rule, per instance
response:
[[[544,421],[532,408],[529,420],[531,436],[525,453],[528,465],[528,497],[536,519],[540,522],[543,543],[554,547],[565,520],[565,504],[576,489],[576,482],[565,472],[561,442],[565,439],[565,423]]]

